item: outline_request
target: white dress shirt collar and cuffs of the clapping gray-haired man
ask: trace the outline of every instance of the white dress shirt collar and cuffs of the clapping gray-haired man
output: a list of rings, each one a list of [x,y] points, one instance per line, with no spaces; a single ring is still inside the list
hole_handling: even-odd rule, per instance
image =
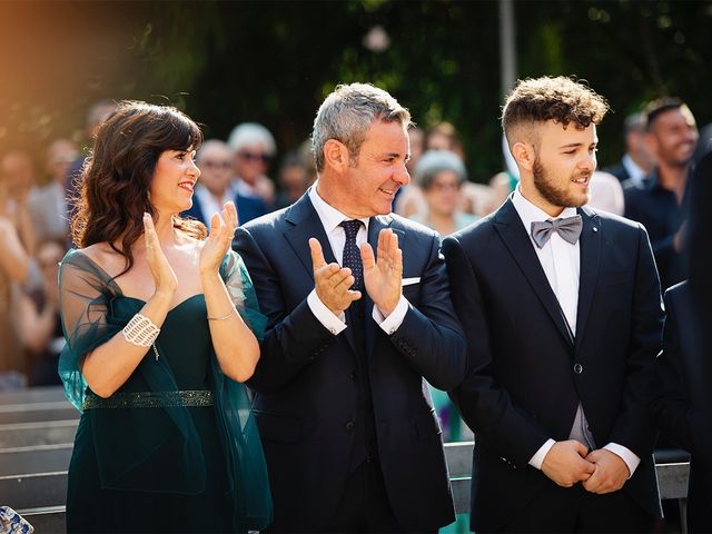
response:
[[[352,217],[345,216],[338,209],[329,206],[322,197],[319,197],[316,191],[317,185],[318,181],[309,188],[309,200],[312,200],[312,205],[319,216],[319,220],[322,221],[324,231],[326,231],[326,237],[329,240],[334,257],[339,265],[344,265],[343,259],[344,247],[346,245],[346,230],[344,230],[339,225],[344,220],[352,219]],[[358,234],[356,235],[356,246],[360,247],[360,245],[366,243],[368,238],[369,218],[366,217],[365,219],[359,220],[363,222],[363,226],[358,229]],[[328,328],[332,334],[337,335],[347,327],[345,322],[346,314],[342,312],[338,316],[334,315],[332,310],[319,299],[316,294],[316,289],[312,289],[312,293],[309,293],[309,296],[307,297],[307,305],[319,323]],[[374,306],[373,318],[386,334],[390,335],[403,324],[403,319],[407,312],[408,301],[403,295],[400,295],[398,304],[388,317],[385,317],[378,307]]]

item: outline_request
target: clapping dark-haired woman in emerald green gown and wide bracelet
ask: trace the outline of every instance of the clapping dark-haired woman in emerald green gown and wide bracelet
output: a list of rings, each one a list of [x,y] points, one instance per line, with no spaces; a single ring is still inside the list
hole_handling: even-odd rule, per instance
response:
[[[271,521],[245,386],[259,314],[230,249],[231,202],[209,233],[191,205],[202,141],[175,108],[122,102],[98,129],[60,266],[59,372],[82,412],[67,530],[247,532]]]

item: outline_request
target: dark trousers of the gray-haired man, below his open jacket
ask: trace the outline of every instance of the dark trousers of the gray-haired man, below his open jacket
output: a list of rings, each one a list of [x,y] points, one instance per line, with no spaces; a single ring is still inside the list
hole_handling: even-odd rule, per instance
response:
[[[404,532],[376,459],[363,462],[346,481],[336,513],[324,532]]]

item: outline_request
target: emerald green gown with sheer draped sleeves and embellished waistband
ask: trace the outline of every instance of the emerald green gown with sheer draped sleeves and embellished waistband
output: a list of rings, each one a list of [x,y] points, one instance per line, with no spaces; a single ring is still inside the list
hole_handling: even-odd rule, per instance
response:
[[[264,317],[239,256],[228,254],[220,273],[238,310],[259,333]],[[83,409],[69,466],[67,531],[266,527],[271,500],[249,398],[219,369],[204,296],[168,313],[156,342],[158,356],[148,348],[121,388],[101,399],[87,388],[79,363],[145,303],[123,296],[77,250],[62,260],[60,295],[68,339],[60,376],[69,399]]]

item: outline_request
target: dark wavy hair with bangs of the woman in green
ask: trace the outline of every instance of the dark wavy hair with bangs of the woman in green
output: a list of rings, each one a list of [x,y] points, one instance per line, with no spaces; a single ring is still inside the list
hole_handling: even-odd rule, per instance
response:
[[[131,245],[144,234],[144,212],[156,216],[149,189],[158,158],[166,150],[197,150],[202,132],[188,116],[170,106],[119,102],[97,129],[93,149],[73,199],[71,234],[80,247],[107,241],[134,266]],[[197,238],[207,235],[197,220],[174,217],[174,227]],[[117,244],[120,243],[119,246]]]

